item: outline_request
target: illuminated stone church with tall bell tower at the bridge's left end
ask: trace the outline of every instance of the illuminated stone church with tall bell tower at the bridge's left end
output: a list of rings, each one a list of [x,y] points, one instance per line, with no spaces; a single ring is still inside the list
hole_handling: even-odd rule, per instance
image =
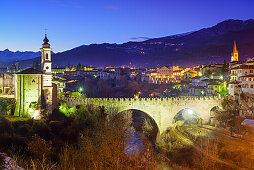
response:
[[[41,70],[27,68],[15,74],[15,116],[40,118],[58,107],[59,92],[52,83],[51,51],[47,34],[41,48]]]

